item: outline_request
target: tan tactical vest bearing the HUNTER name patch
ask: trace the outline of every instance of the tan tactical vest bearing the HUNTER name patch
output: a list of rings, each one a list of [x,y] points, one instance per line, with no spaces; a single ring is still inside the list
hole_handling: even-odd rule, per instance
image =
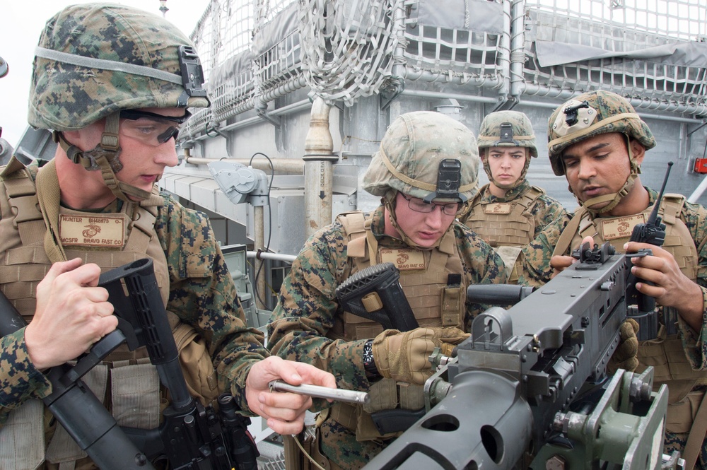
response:
[[[0,172],[0,252],[4,253],[0,258],[0,288],[27,322],[31,322],[35,312],[36,286],[52,264],[45,252],[47,227],[37,200],[35,176],[15,159]],[[58,196],[56,202],[58,206]],[[59,207],[59,223],[64,224],[59,235],[62,245],[66,245],[66,259],[80,257],[84,263],[95,263],[102,271],[108,271],[150,257],[166,305],[167,259],[154,236],[157,206],[161,204],[163,198],[155,189],[147,201],[124,204],[119,213],[86,213]],[[112,238],[101,237],[99,231],[111,233],[112,225],[120,227],[117,238],[122,246],[112,247],[113,242],[109,243]],[[112,235],[116,237],[117,233],[114,228]],[[170,315],[173,327],[177,324],[175,319],[175,315]],[[144,429],[158,426],[160,382],[156,368],[149,363],[146,348],[129,351],[126,345],[119,346],[102,365],[85,375],[83,382],[101,401],[105,401],[106,395],[111,397],[107,408],[119,425]],[[47,431],[51,440],[45,453],[43,410],[42,402],[32,399],[10,413],[6,425],[0,429],[0,468],[35,469],[46,459],[47,466],[52,468],[73,469],[76,460],[86,457],[58,423],[55,429]]]

